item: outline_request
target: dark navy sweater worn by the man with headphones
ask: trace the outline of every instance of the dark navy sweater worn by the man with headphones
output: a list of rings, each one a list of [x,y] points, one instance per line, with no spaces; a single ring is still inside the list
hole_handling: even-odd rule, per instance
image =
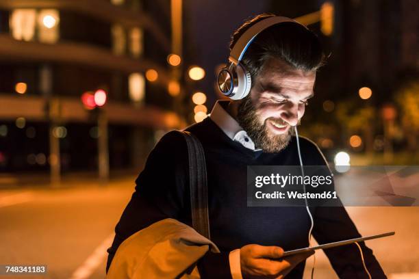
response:
[[[284,250],[307,247],[310,227],[305,207],[247,207],[247,165],[299,165],[296,140],[277,153],[253,151],[233,142],[210,119],[188,127],[201,141],[207,165],[211,240],[220,254],[208,252],[198,263],[203,278],[231,278],[229,252],[247,244],[277,245]],[[300,137],[305,165],[325,165],[317,146]],[[127,237],[165,218],[192,225],[186,142],[169,132],[149,154],[136,179],[136,191],[116,225],[108,249],[107,269]],[[344,207],[312,207],[313,235],[318,243],[360,237]],[[372,278],[386,278],[372,250],[360,243]],[[340,278],[368,278],[356,245],[325,250]],[[305,262],[287,278],[302,278]]]

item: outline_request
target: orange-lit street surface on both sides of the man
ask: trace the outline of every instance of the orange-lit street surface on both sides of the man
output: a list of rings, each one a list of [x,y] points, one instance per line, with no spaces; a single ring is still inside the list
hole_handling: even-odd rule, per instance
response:
[[[90,182],[1,190],[0,264],[47,265],[48,272],[0,278],[104,278],[105,250],[133,190],[131,176],[107,186]],[[351,207],[348,212],[362,235],[396,231],[367,243],[391,279],[419,278],[418,207]],[[318,251],[316,257],[314,278],[337,278],[325,254]],[[305,278],[311,267],[312,258]]]

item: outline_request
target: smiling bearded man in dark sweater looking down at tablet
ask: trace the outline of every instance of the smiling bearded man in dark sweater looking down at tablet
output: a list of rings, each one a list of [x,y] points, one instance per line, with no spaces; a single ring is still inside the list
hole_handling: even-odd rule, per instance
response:
[[[259,15],[234,34],[271,15]],[[299,165],[294,129],[314,96],[316,70],[325,55],[318,38],[296,23],[260,32],[240,63],[251,75],[251,91],[239,101],[218,101],[210,117],[186,129],[203,145],[207,168],[212,241],[198,263],[202,278],[302,278],[310,254],[283,257],[284,250],[309,245],[311,222],[305,207],[247,207],[248,165]],[[299,137],[306,165],[327,165],[318,147]],[[150,153],[136,179],[136,191],[116,226],[108,250],[109,267],[127,237],[166,218],[191,225],[188,152],[177,132],[169,132]],[[311,208],[318,243],[360,237],[344,207]],[[372,250],[359,243],[372,278],[385,278]],[[340,278],[368,278],[357,246],[325,250]]]

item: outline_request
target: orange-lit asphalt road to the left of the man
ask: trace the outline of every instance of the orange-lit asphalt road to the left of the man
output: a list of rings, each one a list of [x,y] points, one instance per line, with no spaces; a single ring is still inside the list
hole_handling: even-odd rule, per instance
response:
[[[104,278],[105,250],[133,189],[129,178],[107,187],[1,191],[0,264],[47,265],[38,278]]]

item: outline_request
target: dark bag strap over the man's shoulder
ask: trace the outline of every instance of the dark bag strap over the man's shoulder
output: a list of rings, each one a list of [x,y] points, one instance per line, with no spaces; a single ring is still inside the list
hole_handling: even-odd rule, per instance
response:
[[[207,168],[205,155],[199,139],[188,131],[181,131],[188,146],[190,208],[192,227],[207,239],[210,239],[210,221],[208,217]]]

